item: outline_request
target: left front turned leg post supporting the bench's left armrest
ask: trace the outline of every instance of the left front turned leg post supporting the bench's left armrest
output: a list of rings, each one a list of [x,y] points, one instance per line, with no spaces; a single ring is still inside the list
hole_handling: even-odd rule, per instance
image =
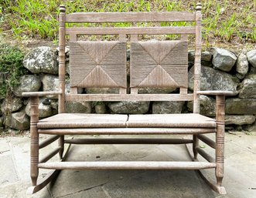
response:
[[[37,131],[37,122],[39,120],[39,97],[31,97],[30,102],[30,176],[32,180],[32,186],[36,186],[39,173],[39,133]]]

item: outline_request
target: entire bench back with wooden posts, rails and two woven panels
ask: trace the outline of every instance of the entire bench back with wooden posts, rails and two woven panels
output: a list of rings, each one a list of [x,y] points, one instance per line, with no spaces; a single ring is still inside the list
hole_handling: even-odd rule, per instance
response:
[[[68,23],[196,22],[191,26],[69,27]],[[175,41],[138,41],[138,35],[180,35]],[[65,95],[65,45],[70,42],[70,94]],[[77,41],[78,35],[118,35],[119,41]],[[127,83],[126,48],[130,39],[130,84]],[[188,93],[188,35],[196,35],[194,93]],[[201,59],[201,5],[189,12],[105,12],[65,14],[60,6],[59,112],[66,100],[193,100],[199,112]],[[77,94],[77,88],[117,88],[119,94]],[[179,93],[139,94],[143,88],[177,88]],[[130,92],[130,93],[129,93]]]

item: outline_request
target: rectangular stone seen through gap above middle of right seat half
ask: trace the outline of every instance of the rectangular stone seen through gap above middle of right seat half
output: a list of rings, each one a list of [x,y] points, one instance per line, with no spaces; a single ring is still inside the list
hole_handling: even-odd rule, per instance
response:
[[[153,102],[152,113],[166,114],[166,113],[181,113],[184,106],[184,101],[163,101]]]

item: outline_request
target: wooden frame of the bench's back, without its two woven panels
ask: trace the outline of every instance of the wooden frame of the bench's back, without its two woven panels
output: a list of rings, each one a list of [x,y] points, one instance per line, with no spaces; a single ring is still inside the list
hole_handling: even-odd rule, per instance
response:
[[[115,23],[115,22],[196,22],[191,26],[132,26],[132,27],[66,27],[67,23]],[[119,35],[120,41],[125,41],[125,35],[131,35],[131,42],[138,42],[138,35],[182,35],[181,42],[187,41],[187,35],[196,35],[194,93],[188,93],[187,87],[180,87],[176,94],[138,94],[138,88],[131,87],[131,94],[122,87],[119,94],[77,94],[76,87],[70,94],[65,94],[65,35],[70,35],[70,42],[77,42],[77,35]],[[88,49],[87,49],[88,50]],[[183,54],[184,55],[184,54]],[[67,101],[186,101],[193,100],[193,112],[199,112],[199,99],[196,92],[200,90],[200,59],[201,59],[201,5],[196,6],[196,12],[77,12],[65,14],[65,7],[60,6],[60,91],[59,112],[64,112],[64,102]],[[101,65],[94,73],[101,72]],[[156,73],[162,72],[159,69]],[[72,91],[75,90],[75,91]]]

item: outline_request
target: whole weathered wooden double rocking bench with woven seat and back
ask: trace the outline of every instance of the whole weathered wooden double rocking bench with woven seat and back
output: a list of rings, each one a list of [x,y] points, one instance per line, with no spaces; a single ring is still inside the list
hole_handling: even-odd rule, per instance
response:
[[[70,27],[71,23],[117,22],[191,22],[190,26],[133,26],[133,27]],[[196,12],[127,12],[127,13],[72,13],[65,15],[60,6],[59,92],[26,92],[31,99],[31,179],[29,193],[41,190],[60,169],[215,169],[217,183],[207,183],[218,193],[226,193],[221,185],[224,176],[224,98],[232,92],[200,91],[201,60],[201,5]],[[70,93],[65,92],[65,45],[70,45]],[[77,41],[78,35],[118,35],[118,41]],[[178,40],[139,41],[138,35],[179,35]],[[194,89],[188,92],[188,35],[195,35]],[[130,76],[127,79],[126,51],[130,46]],[[128,85],[129,82],[129,85]],[[80,94],[79,88],[115,88],[118,94]],[[176,88],[168,94],[140,94],[142,88]],[[200,115],[199,95],[216,95],[216,119]],[[39,97],[59,97],[59,113],[39,120]],[[66,101],[193,101],[193,113],[115,115],[65,113]],[[215,133],[216,141],[203,134]],[[39,134],[53,135],[39,143]],[[191,135],[191,139],[155,139],[151,135]],[[65,139],[65,135],[130,135],[117,139]],[[136,138],[148,135],[148,138]],[[155,136],[154,136],[155,137]],[[39,159],[39,149],[58,139],[59,146]],[[205,153],[199,140],[216,150],[216,156]],[[191,162],[173,161],[97,161],[65,162],[64,144],[97,143],[182,143],[192,145]],[[60,162],[47,162],[57,153]],[[67,149],[68,153],[68,149]],[[197,155],[206,159],[199,162]],[[39,169],[53,169],[38,182]]]

